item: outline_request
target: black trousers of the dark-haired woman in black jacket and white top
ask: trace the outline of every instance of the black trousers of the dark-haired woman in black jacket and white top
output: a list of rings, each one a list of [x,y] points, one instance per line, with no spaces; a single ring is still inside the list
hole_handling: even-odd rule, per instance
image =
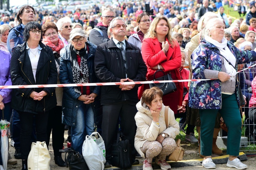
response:
[[[31,133],[33,130],[33,115],[35,115],[35,131],[37,141],[47,141],[47,122],[48,112],[33,114],[29,112],[18,111],[20,117],[20,151],[22,159],[28,159],[31,149]]]

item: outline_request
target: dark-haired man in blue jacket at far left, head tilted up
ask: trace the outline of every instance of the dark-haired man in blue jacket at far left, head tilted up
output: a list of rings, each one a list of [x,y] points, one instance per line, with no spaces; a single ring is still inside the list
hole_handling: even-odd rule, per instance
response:
[[[25,25],[35,20],[35,10],[30,5],[24,5],[20,8],[20,10],[17,13],[17,20],[19,22],[19,25],[16,27],[13,27],[9,31],[9,35],[7,38],[7,48],[8,51],[12,54],[14,49],[17,45],[24,43],[24,35],[23,31],[25,28]],[[15,147],[15,153],[14,157],[16,159],[21,159],[21,152],[20,152],[20,119],[19,114],[16,112],[16,110],[13,109],[13,122],[12,122],[12,138],[14,141],[14,147]],[[34,140],[35,140],[35,133],[33,134]]]

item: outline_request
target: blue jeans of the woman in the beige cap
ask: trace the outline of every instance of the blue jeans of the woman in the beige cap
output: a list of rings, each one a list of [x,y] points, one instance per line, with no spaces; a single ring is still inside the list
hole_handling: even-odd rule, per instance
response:
[[[82,146],[86,135],[94,132],[94,111],[89,104],[80,102],[76,113],[75,126],[71,127],[71,143],[73,150],[82,154]]]

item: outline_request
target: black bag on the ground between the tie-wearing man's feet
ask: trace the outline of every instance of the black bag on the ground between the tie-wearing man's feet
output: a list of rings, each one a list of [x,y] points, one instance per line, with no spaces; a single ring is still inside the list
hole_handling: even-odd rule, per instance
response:
[[[119,131],[111,146],[111,165],[121,169],[131,167],[131,145],[129,140]]]

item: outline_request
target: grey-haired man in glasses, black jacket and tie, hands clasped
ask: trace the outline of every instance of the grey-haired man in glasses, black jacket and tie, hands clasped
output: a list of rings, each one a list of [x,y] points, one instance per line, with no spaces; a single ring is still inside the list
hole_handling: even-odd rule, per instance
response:
[[[121,17],[110,23],[112,38],[99,45],[95,53],[95,73],[102,82],[144,81],[147,68],[142,59],[140,49],[125,40],[126,25]],[[135,160],[134,136],[137,112],[138,88],[140,84],[102,86],[101,104],[103,106],[102,138],[106,148],[105,168],[111,164],[111,144],[116,135],[119,123],[123,134],[131,144],[132,164]]]

